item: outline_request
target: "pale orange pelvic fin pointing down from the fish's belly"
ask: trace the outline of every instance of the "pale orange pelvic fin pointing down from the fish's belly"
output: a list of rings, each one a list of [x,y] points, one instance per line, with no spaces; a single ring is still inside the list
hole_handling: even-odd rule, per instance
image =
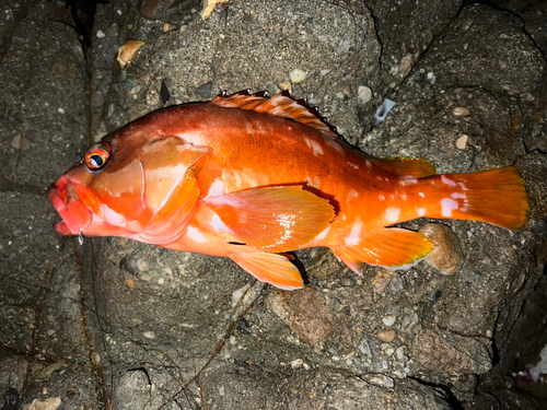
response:
[[[283,255],[257,251],[234,254],[230,258],[260,282],[288,291],[304,288],[298,268]]]

